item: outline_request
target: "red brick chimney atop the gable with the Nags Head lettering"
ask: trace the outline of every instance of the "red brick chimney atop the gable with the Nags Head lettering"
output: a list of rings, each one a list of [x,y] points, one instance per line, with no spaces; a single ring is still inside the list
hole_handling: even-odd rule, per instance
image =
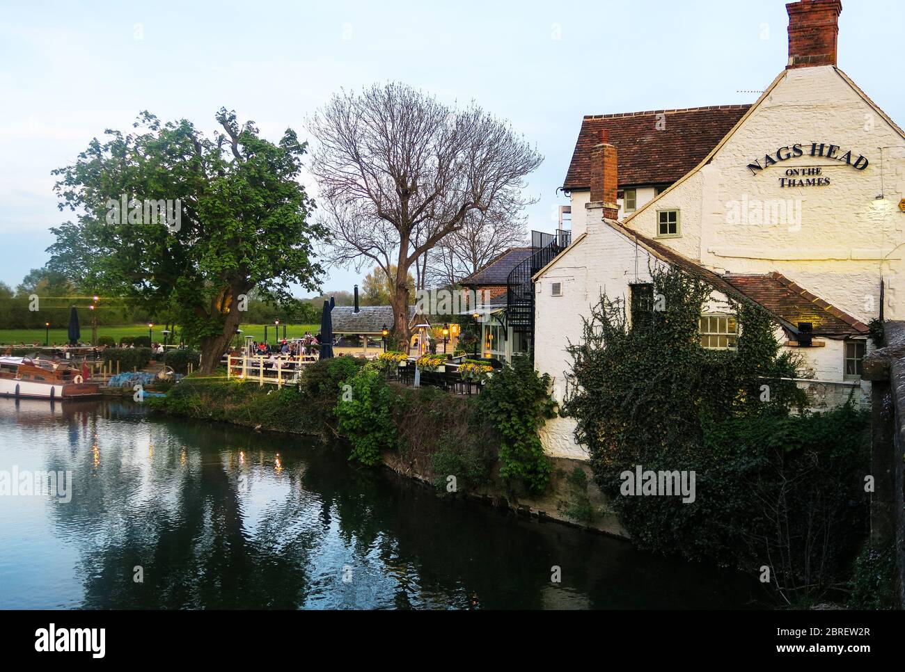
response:
[[[786,69],[836,64],[836,38],[842,0],[800,0],[789,13],[789,62]]]

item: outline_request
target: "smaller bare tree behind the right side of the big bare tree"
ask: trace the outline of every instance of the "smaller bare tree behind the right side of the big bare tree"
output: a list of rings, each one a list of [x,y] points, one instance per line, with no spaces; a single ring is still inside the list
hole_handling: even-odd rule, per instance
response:
[[[427,282],[456,285],[504,251],[527,244],[525,219],[519,213],[472,213],[459,231],[446,236],[425,257]]]

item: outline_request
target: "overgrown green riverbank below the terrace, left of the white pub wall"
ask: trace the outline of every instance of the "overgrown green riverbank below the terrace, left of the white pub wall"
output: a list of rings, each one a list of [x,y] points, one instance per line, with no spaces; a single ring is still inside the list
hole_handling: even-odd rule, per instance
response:
[[[394,354],[370,363],[336,357],[306,366],[298,385],[280,390],[190,375],[148,403],[160,412],[340,440],[362,467],[385,461],[443,493],[491,485],[513,496],[548,490],[554,465],[538,429],[553,412],[550,381],[528,357],[474,396],[395,383],[396,365]]]

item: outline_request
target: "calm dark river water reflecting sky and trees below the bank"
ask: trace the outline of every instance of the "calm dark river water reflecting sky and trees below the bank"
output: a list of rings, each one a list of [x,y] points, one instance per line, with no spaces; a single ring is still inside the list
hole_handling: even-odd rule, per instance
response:
[[[4,608],[735,607],[758,594],[734,573],[351,469],[334,450],[129,402],[0,400],[0,435],[0,469],[73,475],[70,504],[0,497]]]

